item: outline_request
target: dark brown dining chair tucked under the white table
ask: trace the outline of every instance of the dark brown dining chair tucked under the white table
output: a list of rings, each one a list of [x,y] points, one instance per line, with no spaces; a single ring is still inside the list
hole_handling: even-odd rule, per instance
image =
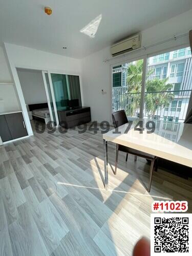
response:
[[[128,123],[129,121],[127,120],[126,114],[124,110],[120,110],[117,112],[112,113],[112,119],[113,119],[113,124],[115,129],[125,123]],[[152,184],[152,176],[153,176],[153,171],[156,168],[157,169],[157,160],[158,158],[156,156],[138,151],[138,150],[134,150],[133,148],[127,147],[127,146],[123,146],[120,144],[116,144],[116,160],[115,160],[115,175],[117,173],[117,162],[118,162],[118,153],[119,151],[122,151],[124,153],[126,153],[126,161],[128,158],[128,154],[134,155],[135,156],[135,161],[137,161],[137,156],[138,157],[142,157],[145,158],[147,160],[151,160],[151,166],[150,166],[150,180],[149,180],[149,184],[148,184],[148,192],[150,192],[151,190],[151,184]]]

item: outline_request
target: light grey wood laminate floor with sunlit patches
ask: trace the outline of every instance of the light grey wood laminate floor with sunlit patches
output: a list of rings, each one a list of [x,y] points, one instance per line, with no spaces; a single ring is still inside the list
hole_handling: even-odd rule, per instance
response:
[[[150,165],[109,143],[109,191],[103,186],[100,132],[69,130],[0,146],[0,255],[132,255],[150,238],[154,200],[187,200],[192,181],[158,169],[151,193]],[[181,170],[182,171],[182,170]]]

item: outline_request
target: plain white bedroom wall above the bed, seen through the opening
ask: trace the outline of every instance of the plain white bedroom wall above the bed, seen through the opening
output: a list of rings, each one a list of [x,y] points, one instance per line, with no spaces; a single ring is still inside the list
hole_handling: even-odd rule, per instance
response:
[[[17,74],[27,105],[47,102],[41,71],[17,69]]]

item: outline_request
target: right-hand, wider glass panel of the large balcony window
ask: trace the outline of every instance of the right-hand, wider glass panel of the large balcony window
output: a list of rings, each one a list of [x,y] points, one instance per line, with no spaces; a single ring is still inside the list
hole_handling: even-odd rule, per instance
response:
[[[147,59],[143,116],[163,120],[174,129],[184,122],[192,90],[192,59],[189,48]]]

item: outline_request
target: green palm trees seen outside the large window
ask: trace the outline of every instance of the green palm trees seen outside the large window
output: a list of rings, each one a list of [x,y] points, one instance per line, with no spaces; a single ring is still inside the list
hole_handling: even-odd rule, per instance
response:
[[[133,115],[140,108],[143,60],[130,63],[127,70],[127,115]],[[154,69],[146,73],[145,111],[155,115],[159,107],[168,106],[174,94],[168,92],[173,85],[165,79],[148,79]],[[164,93],[163,93],[164,92]]]

